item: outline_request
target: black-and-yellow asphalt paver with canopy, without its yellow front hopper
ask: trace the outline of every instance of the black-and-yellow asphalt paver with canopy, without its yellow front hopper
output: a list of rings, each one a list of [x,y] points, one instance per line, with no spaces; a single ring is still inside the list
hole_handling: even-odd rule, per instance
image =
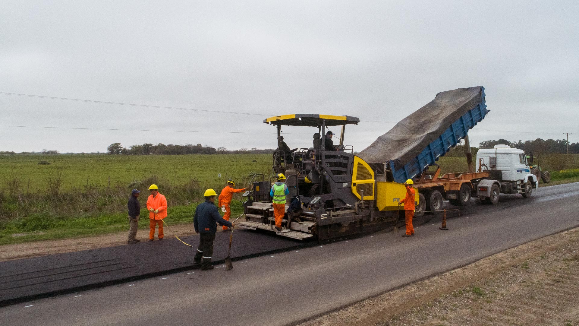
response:
[[[358,124],[353,116],[295,114],[267,118],[263,123],[277,128],[277,149],[273,153],[272,175],[256,174],[251,191],[244,194],[245,218],[239,226],[263,229],[294,239],[318,240],[362,232],[369,221],[374,198],[374,172],[354,148],[344,144],[348,124]],[[312,127],[312,144],[290,149],[280,137],[282,127]],[[327,149],[324,135],[329,127],[341,129],[334,150]],[[285,174],[290,195],[281,232],[274,228],[269,191],[273,175]],[[403,188],[403,187],[402,187]],[[400,190],[400,188],[399,188]],[[399,191],[400,193],[400,191]],[[404,195],[404,193],[402,193]],[[288,208],[292,208],[288,211]]]

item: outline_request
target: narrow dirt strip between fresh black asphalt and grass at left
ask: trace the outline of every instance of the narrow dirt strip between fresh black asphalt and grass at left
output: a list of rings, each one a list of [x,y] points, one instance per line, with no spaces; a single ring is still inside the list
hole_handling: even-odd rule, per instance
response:
[[[195,234],[192,223],[171,225],[171,229],[178,237]],[[173,237],[171,231],[164,228],[165,237]],[[127,246],[138,246],[138,244],[127,244],[129,232],[109,233],[108,235],[77,237],[61,240],[35,241],[19,244],[6,244],[0,246],[0,261],[10,261],[20,258],[31,258],[43,255],[62,254],[64,252],[74,252],[95,248],[115,247],[126,244]],[[149,240],[149,228],[140,228],[137,232],[137,239],[141,241]],[[156,240],[156,239],[155,239]],[[185,241],[186,242],[186,241]]]

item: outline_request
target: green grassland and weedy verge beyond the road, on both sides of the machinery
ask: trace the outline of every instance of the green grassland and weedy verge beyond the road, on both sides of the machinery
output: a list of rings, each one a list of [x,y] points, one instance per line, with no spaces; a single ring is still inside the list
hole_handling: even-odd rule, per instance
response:
[[[579,181],[578,158],[545,157],[544,167],[569,167],[552,171],[552,184]],[[50,164],[39,165],[41,160]],[[242,188],[254,173],[269,175],[271,164],[271,155],[0,155],[0,244],[126,230],[130,189],[145,191],[144,206],[146,188],[155,178],[169,203],[167,223],[190,223],[204,189],[219,192],[228,178]],[[468,170],[464,157],[441,157],[438,164],[442,173]],[[63,174],[63,185],[51,196],[47,177],[56,171]],[[15,178],[20,181],[16,187]],[[243,212],[240,197],[235,198],[233,215]],[[147,218],[140,224],[146,228]]]

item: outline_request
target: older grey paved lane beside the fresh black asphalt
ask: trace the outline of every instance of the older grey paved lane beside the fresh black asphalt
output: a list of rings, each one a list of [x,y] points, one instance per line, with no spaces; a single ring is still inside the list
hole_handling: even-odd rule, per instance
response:
[[[5,325],[285,325],[579,226],[579,183],[473,201],[449,231],[376,233],[0,309]],[[188,274],[190,273],[190,274]]]

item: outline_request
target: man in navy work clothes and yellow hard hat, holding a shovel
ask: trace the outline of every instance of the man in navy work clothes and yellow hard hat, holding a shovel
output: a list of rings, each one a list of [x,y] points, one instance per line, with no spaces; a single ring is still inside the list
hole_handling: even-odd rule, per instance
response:
[[[195,254],[193,261],[196,264],[200,263],[203,270],[213,269],[211,257],[213,256],[213,242],[215,241],[217,224],[233,227],[232,222],[226,221],[219,215],[217,206],[215,206],[215,197],[217,197],[217,193],[213,189],[207,189],[205,202],[195,208],[195,216],[193,216],[195,233],[200,233],[199,247],[197,247],[197,254]]]

